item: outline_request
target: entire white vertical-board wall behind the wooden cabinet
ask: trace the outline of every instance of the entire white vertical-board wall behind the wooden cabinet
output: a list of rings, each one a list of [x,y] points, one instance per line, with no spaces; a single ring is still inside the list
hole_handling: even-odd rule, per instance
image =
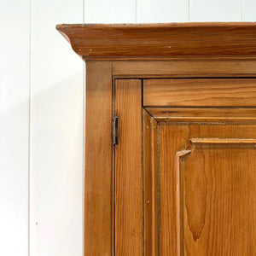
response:
[[[256,20],[255,0],[0,0],[0,255],[82,256],[84,63],[59,23]]]

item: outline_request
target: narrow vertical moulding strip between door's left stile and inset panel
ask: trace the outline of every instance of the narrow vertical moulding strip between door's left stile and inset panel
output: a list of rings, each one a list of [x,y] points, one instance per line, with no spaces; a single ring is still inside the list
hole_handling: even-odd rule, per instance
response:
[[[159,189],[157,166],[157,122],[143,110],[144,255],[159,252]]]

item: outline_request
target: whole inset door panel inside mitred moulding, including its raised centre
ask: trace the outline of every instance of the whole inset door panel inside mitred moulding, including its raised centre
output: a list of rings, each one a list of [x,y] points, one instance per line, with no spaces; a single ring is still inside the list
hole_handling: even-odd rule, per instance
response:
[[[177,255],[254,255],[256,125],[161,122],[159,129],[162,255],[174,246],[173,230]],[[189,154],[177,161],[178,152]]]

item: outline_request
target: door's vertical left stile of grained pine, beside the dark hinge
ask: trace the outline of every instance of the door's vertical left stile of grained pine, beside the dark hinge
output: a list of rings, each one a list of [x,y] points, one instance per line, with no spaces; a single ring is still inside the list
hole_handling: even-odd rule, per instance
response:
[[[143,255],[142,81],[116,80],[115,253]]]

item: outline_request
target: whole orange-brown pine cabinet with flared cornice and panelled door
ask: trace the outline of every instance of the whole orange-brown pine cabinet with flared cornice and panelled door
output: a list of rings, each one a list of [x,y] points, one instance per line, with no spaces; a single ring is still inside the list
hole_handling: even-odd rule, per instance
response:
[[[57,29],[86,61],[84,255],[256,255],[256,24]]]

